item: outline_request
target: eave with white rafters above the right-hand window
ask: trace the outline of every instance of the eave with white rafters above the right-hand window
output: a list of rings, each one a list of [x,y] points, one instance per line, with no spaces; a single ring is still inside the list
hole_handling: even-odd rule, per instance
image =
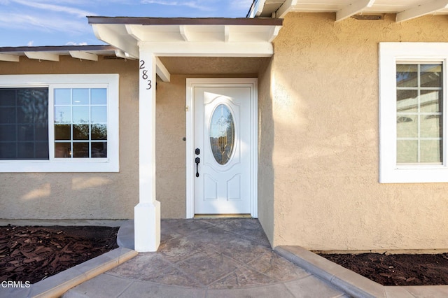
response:
[[[448,14],[448,0],[254,0],[248,17],[284,17],[289,12],[336,13],[336,21],[352,15],[396,13],[396,22],[422,15]]]

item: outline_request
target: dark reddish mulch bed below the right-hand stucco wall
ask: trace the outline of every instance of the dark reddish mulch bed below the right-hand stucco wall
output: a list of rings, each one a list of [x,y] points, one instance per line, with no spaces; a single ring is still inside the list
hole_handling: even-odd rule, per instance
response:
[[[448,285],[448,253],[320,255],[381,285]]]

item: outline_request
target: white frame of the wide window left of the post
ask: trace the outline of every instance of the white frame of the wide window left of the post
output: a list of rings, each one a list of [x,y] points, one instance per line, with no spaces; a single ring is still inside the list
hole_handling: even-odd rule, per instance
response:
[[[119,75],[62,74],[62,75],[11,75],[0,76],[0,88],[48,88],[48,146],[47,160],[0,160],[0,173],[27,172],[118,172],[119,161]],[[55,158],[54,152],[54,90],[56,88],[107,89],[107,157],[106,158]]]

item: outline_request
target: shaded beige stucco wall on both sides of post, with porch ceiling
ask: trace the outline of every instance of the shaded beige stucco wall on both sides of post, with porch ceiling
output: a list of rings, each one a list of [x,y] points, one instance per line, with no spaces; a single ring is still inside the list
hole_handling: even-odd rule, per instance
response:
[[[0,173],[0,219],[134,218],[139,202],[138,62],[104,59],[59,62],[20,57],[0,62],[0,75],[118,73],[120,75],[119,173]],[[186,78],[254,77],[265,59],[162,58],[171,81],[157,82],[156,195],[162,218],[186,217]]]

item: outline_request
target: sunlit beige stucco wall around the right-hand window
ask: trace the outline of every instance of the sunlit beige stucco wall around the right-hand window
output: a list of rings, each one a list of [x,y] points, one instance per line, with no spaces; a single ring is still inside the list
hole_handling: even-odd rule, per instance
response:
[[[448,248],[448,183],[378,183],[378,43],[447,42],[447,19],[334,20],[289,13],[274,41],[273,245]]]

